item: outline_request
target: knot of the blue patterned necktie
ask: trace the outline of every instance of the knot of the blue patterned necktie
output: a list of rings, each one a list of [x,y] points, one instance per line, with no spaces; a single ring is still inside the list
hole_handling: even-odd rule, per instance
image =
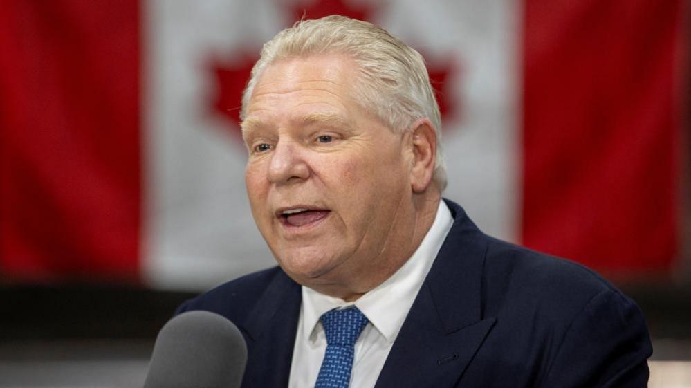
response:
[[[327,311],[320,318],[326,343],[329,345],[353,346],[367,326],[367,317],[357,307]]]

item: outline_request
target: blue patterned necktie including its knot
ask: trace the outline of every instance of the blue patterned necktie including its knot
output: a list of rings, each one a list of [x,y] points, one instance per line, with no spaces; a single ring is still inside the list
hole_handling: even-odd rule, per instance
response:
[[[353,368],[355,342],[367,326],[357,307],[327,311],[320,318],[326,333],[326,353],[315,388],[347,388]]]

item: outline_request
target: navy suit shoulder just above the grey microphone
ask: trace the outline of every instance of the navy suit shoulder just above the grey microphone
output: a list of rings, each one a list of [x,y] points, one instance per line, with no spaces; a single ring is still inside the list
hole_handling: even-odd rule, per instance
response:
[[[176,310],[176,315],[185,311],[205,310],[219,313],[231,320],[237,319],[239,315],[252,309],[277,276],[285,275],[276,266],[228,281],[183,302]]]

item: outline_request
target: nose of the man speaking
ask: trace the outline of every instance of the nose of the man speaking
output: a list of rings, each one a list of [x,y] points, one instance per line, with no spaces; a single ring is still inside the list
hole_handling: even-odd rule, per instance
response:
[[[292,140],[283,139],[271,153],[268,170],[269,181],[275,184],[300,181],[310,174],[302,147]]]

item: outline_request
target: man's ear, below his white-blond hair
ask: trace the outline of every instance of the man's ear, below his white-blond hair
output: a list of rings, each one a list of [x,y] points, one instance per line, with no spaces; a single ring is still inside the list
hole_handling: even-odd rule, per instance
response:
[[[436,162],[436,132],[428,118],[421,118],[412,125],[411,145],[413,151],[410,185],[415,194],[427,190],[434,175]]]

